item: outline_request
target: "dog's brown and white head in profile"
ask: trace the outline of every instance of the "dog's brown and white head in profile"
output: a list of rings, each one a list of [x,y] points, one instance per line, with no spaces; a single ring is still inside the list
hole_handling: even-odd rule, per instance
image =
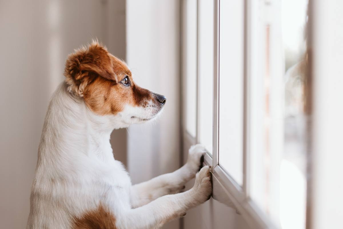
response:
[[[83,97],[95,114],[116,116],[122,127],[155,118],[166,102],[165,96],[135,84],[125,62],[98,42],[70,54],[64,76],[70,93]]]

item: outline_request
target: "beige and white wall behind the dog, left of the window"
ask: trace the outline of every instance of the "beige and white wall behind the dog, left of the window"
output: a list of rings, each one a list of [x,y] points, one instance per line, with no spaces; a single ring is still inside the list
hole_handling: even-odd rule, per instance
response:
[[[179,167],[179,8],[179,1],[0,1],[1,228],[26,227],[50,96],[64,80],[67,55],[93,38],[127,61],[141,87],[168,99],[157,124],[113,132],[115,158],[133,183]]]

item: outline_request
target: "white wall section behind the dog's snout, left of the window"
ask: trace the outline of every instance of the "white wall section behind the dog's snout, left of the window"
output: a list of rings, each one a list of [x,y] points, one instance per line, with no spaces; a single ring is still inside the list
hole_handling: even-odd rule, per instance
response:
[[[179,167],[180,9],[175,0],[127,0],[126,8],[127,60],[134,80],[167,98],[156,124],[128,128],[128,168],[138,183]]]

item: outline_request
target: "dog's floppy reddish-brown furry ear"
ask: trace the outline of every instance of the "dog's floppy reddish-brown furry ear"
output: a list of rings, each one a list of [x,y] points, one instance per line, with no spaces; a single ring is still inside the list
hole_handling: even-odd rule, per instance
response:
[[[83,96],[87,84],[96,77],[117,82],[111,55],[97,41],[93,41],[88,48],[75,50],[68,56],[64,76],[69,84],[69,91],[79,96]]]

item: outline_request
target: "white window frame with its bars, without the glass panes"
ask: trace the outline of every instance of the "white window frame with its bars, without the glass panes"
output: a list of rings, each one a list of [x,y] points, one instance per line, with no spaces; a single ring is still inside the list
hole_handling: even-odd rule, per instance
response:
[[[247,58],[250,53],[250,30],[249,30],[249,22],[250,22],[250,1],[252,0],[244,0],[244,123],[243,123],[243,185],[240,186],[237,182],[230,177],[230,175],[219,166],[218,163],[218,108],[219,108],[219,12],[220,12],[220,0],[214,0],[214,55],[213,55],[213,148],[212,148],[212,155],[206,153],[204,157],[204,164],[205,165],[212,165],[213,169],[213,198],[223,198],[222,193],[227,194],[227,199],[217,199],[218,201],[225,203],[225,202],[232,202],[234,207],[236,208],[237,212],[246,220],[246,222],[251,226],[251,228],[279,228],[279,225],[275,225],[274,222],[270,219],[267,214],[264,213],[257,205],[254,203],[249,197],[249,77],[250,77],[250,59]],[[186,19],[186,3],[183,5],[183,18]],[[183,74],[185,77],[182,77],[183,85],[186,81],[186,50],[185,50],[185,36],[186,34],[186,20],[183,20],[182,24],[183,28],[183,44],[184,48],[182,49],[182,56],[183,58]],[[191,136],[188,131],[186,130],[186,125],[183,123],[182,125],[182,133],[183,133],[183,143],[184,143],[184,160],[186,159],[186,155],[188,149],[191,145],[197,144],[199,142],[199,1],[197,1],[197,126],[196,126],[196,136]],[[183,94],[185,95],[186,87],[183,87]],[[185,99],[183,101],[186,101]],[[183,117],[186,114],[186,107],[187,104],[183,104]],[[182,119],[185,122],[185,119]],[[221,190],[218,190],[221,189]],[[217,195],[217,193],[221,193],[221,195]]]

